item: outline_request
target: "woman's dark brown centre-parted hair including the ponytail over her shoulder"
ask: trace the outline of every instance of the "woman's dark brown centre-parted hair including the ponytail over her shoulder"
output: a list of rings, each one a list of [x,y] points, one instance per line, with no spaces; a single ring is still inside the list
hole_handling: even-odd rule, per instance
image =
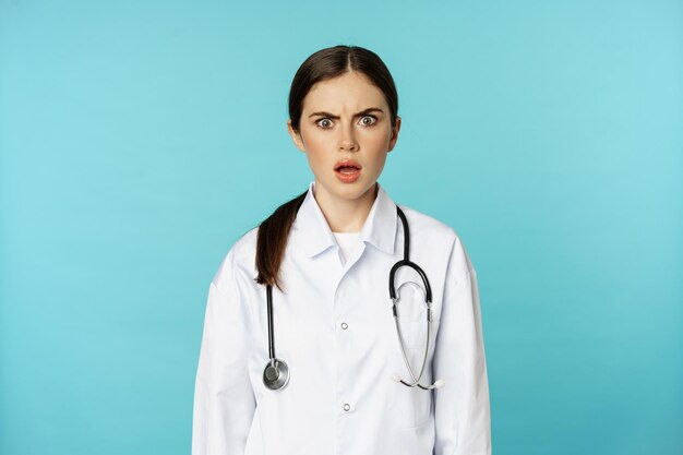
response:
[[[396,127],[398,94],[394,79],[380,57],[371,50],[358,46],[334,46],[312,53],[295,74],[289,89],[289,119],[291,128],[299,133],[303,99],[311,87],[321,81],[331,80],[356,71],[364,74],[384,93],[390,108],[392,128]],[[287,247],[289,230],[303,200],[304,191],[297,197],[277,207],[261,225],[256,240],[255,282],[261,285],[276,286],[283,290],[279,267]]]

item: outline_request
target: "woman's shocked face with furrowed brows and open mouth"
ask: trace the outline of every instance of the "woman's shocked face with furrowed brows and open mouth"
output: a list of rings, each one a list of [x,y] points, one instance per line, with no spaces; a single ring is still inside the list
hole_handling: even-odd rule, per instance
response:
[[[392,129],[382,91],[364,74],[347,72],[313,85],[303,99],[299,133],[291,129],[291,120],[287,127],[296,146],[307,154],[316,193],[351,201],[374,189],[396,144],[400,118]],[[357,176],[335,170],[344,159],[360,166]]]

